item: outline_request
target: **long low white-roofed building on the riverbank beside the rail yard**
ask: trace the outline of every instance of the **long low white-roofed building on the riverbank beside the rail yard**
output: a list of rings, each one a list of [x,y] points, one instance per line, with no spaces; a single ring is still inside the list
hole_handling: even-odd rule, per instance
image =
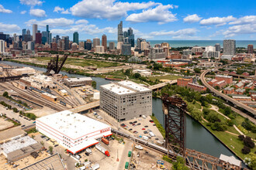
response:
[[[91,77],[78,77],[78,78],[67,78],[64,79],[64,84],[67,87],[81,87],[86,85],[92,85]]]

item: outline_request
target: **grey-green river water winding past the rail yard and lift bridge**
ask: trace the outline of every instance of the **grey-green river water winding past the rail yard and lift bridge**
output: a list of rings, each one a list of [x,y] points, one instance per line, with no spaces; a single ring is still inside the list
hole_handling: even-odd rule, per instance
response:
[[[12,63],[6,61],[0,61],[0,63],[9,64],[12,66],[28,66],[25,64]],[[29,66],[35,70],[46,71],[44,68]],[[70,74],[66,72],[61,72],[67,76],[76,76],[77,74]],[[103,84],[110,83],[110,80],[105,80],[99,77],[92,77],[92,80],[95,80],[97,83],[97,89]],[[153,113],[157,117],[158,121],[163,124],[163,110],[162,110],[162,101],[159,98],[153,99]],[[193,120],[192,117],[186,116],[186,148],[194,149],[195,151],[201,151],[202,153],[213,155],[217,158],[220,157],[220,154],[224,155],[234,155],[229,151],[220,141],[218,141],[212,134],[209,133],[205,128],[202,127],[197,121]],[[235,156],[235,155],[234,155]]]

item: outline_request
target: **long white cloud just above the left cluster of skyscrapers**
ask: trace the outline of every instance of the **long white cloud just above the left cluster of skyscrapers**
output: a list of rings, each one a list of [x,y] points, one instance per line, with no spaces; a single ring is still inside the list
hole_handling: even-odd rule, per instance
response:
[[[30,19],[28,22],[26,22],[27,26],[32,26],[33,24],[37,24],[40,27],[45,27],[46,25],[49,25],[50,27],[57,27],[57,26],[66,27],[74,24],[74,20],[60,18],[60,19],[45,19],[42,21],[37,21],[36,19]]]

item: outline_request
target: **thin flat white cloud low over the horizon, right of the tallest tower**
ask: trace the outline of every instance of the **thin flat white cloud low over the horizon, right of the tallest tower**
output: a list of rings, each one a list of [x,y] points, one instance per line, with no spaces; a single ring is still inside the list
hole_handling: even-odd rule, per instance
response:
[[[150,32],[150,36],[194,36],[198,32],[197,29],[179,29],[178,31],[160,31]]]

